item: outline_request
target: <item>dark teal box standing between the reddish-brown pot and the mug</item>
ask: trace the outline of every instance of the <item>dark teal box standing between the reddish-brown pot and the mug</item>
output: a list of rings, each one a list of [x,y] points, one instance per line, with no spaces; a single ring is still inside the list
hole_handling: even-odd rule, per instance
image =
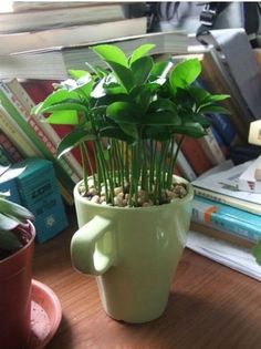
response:
[[[52,162],[28,158],[15,178],[21,204],[34,214],[36,242],[44,243],[67,227],[67,217]]]

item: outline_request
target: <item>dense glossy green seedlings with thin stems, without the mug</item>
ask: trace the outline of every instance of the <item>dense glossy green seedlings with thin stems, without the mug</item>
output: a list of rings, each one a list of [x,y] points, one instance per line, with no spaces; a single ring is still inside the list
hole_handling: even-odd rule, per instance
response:
[[[153,204],[166,203],[163,193],[171,188],[185,136],[206,135],[206,113],[227,112],[218,103],[228,95],[210,94],[196,84],[201,72],[197,59],[176,65],[171,58],[155,62],[148,55],[154,47],[144,44],[130,57],[116,45],[94,47],[105,68],[87,64],[88,71],[70,71],[72,79],[55,85],[32,111],[45,114],[48,123],[73,126],[58,156],[80,146],[85,195],[91,174],[97,193],[104,192],[112,205],[116,187],[128,192],[128,206],[139,205],[139,189]],[[86,141],[93,145],[94,162]]]

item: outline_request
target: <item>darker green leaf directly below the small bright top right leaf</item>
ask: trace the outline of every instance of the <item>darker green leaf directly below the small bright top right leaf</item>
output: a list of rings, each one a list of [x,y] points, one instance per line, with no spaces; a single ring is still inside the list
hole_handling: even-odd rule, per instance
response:
[[[132,66],[133,81],[135,85],[142,85],[148,80],[149,73],[153,69],[153,59],[150,57],[143,57],[136,60]]]

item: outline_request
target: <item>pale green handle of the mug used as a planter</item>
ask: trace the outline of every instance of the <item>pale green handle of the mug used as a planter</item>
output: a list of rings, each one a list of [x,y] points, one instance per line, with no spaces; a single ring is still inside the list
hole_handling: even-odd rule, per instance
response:
[[[102,275],[115,265],[115,234],[112,220],[95,216],[82,226],[71,242],[73,266],[85,274]]]

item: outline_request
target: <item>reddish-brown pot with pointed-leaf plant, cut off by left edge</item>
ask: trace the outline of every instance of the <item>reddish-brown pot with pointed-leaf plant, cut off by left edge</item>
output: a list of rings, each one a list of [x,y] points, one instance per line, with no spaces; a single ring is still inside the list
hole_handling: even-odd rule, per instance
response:
[[[0,182],[23,168],[1,168]],[[33,215],[0,193],[0,347],[25,348],[31,331]]]

